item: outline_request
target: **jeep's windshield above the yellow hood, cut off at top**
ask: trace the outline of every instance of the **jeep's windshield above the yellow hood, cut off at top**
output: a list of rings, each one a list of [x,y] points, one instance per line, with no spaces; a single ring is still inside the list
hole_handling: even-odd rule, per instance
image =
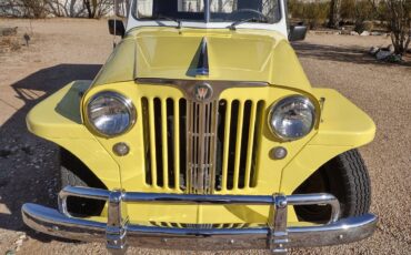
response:
[[[134,0],[138,20],[274,23],[279,0]]]

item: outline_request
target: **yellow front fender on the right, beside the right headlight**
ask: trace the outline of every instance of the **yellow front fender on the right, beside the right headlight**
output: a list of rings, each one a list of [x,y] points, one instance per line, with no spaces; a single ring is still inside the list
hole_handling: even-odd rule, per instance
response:
[[[318,133],[282,171],[281,192],[292,194],[321,165],[337,155],[370,143],[375,124],[335,90],[313,89],[323,102]]]

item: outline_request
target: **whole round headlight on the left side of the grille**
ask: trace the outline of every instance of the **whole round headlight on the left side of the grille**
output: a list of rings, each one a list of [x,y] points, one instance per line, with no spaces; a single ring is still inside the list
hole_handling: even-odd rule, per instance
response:
[[[103,136],[116,136],[131,129],[136,109],[131,101],[116,92],[96,94],[87,105],[91,126]]]

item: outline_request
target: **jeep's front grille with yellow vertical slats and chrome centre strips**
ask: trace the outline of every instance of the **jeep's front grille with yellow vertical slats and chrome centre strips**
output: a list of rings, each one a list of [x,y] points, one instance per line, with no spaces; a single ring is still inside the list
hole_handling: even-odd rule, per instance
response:
[[[264,101],[142,98],[146,183],[212,194],[255,187]]]

